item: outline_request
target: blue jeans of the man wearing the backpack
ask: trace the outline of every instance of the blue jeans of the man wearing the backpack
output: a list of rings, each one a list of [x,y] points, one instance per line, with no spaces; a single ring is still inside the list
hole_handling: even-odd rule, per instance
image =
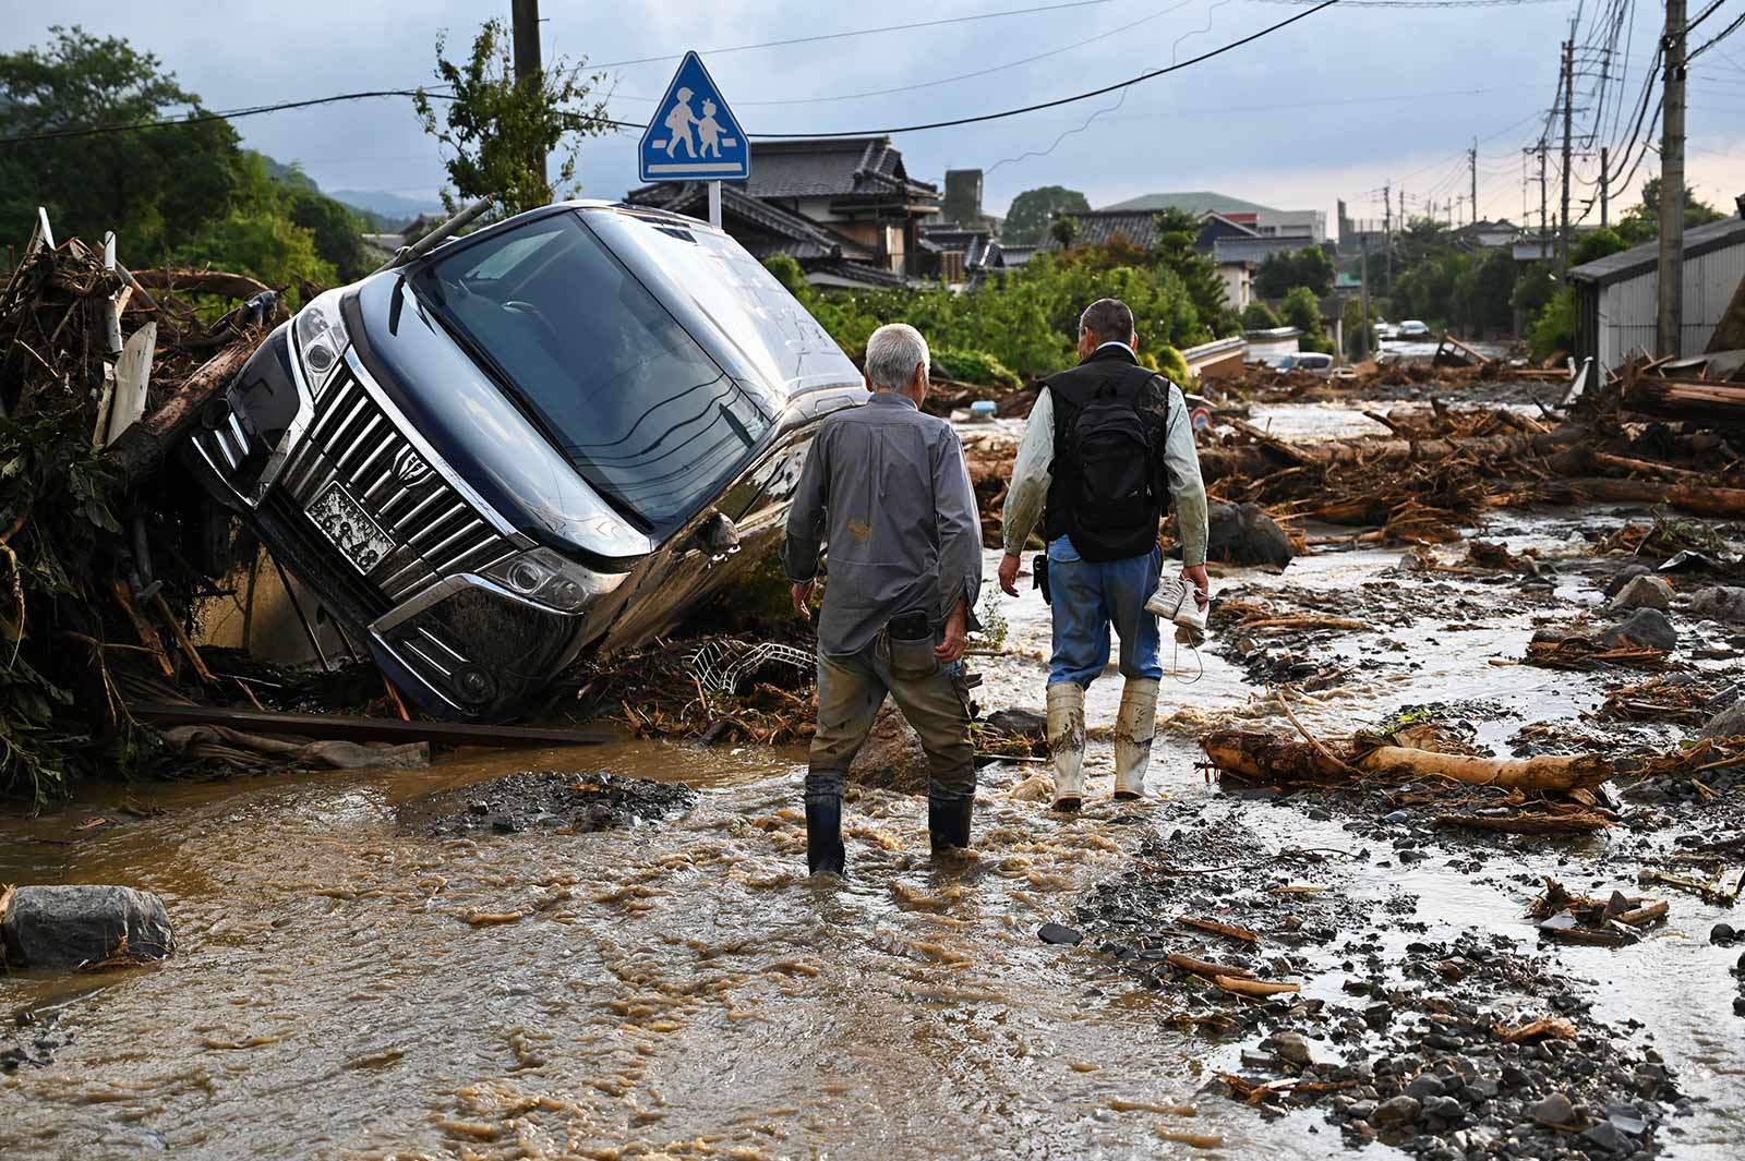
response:
[[[1164,551],[1103,561],[1078,558],[1066,537],[1049,546],[1049,596],[1054,601],[1054,662],[1049,685],[1091,685],[1108,668],[1108,628],[1120,636],[1120,675],[1162,680],[1157,617],[1145,601],[1157,591]]]

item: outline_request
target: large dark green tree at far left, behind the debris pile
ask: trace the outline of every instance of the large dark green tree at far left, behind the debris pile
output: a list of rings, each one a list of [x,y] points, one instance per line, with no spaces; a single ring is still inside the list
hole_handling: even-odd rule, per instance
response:
[[[0,134],[204,115],[150,52],[79,26],[49,37],[47,47],[0,54]],[[58,239],[96,242],[115,230],[131,265],[155,263],[229,207],[236,141],[229,122],[190,120],[0,146],[0,232],[23,242],[40,204]]]

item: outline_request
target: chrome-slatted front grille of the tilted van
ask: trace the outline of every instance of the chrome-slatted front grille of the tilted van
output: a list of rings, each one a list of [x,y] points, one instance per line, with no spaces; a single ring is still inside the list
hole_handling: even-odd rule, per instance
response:
[[[344,364],[276,488],[396,605],[440,577],[515,554]]]

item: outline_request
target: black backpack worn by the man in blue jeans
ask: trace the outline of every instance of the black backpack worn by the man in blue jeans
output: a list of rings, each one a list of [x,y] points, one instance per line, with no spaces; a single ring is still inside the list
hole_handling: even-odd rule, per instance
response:
[[[1157,546],[1164,479],[1138,396],[1106,382],[1066,427],[1068,535],[1089,561],[1143,556]]]

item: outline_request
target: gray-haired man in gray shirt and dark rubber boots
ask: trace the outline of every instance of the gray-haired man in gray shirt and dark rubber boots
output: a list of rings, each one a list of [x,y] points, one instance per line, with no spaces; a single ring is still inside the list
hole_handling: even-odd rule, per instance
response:
[[[951,425],[920,410],[930,356],[892,322],[867,340],[866,406],[824,420],[782,561],[810,617],[818,554],[818,729],[806,769],[806,868],[841,875],[843,777],[888,692],[921,737],[934,854],[970,842],[975,755],[960,659],[981,591],[981,518]]]

